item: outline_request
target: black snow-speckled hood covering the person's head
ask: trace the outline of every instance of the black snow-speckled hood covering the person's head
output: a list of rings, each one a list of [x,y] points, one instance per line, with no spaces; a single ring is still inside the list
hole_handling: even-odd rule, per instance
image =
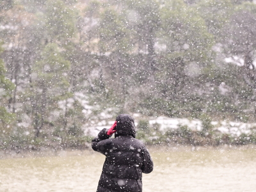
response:
[[[121,114],[116,117],[116,132],[115,137],[117,136],[127,136],[130,135],[135,138],[135,124],[134,119],[131,115]]]

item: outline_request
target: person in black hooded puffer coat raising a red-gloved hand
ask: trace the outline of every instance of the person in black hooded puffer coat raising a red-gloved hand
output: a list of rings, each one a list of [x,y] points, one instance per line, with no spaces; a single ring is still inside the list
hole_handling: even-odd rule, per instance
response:
[[[113,133],[115,138],[110,138]],[[92,140],[93,150],[106,156],[97,192],[142,191],[142,173],[152,172],[153,161],[135,136],[134,119],[121,114],[110,129],[102,129]]]

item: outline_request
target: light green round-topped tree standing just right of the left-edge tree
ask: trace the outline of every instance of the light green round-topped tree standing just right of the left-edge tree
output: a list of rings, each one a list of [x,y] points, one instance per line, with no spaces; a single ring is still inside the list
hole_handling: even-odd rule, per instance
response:
[[[60,48],[56,44],[47,44],[42,51],[40,61],[33,68],[33,127],[37,137],[42,127],[51,122],[51,112],[59,109],[59,102],[68,99],[72,93],[68,91],[68,70],[70,62],[65,60]],[[64,107],[64,112],[65,111]],[[58,116],[55,116],[58,118]],[[65,126],[65,121],[63,121]]]

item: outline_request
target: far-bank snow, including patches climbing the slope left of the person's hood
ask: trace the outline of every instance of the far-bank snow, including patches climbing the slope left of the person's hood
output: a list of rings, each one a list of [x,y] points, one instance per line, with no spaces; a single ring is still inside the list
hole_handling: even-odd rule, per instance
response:
[[[83,106],[83,114],[84,116],[92,116],[92,106],[88,104],[88,100],[86,99],[86,95],[81,92],[77,92],[74,95],[74,98],[80,102]],[[72,102],[74,100],[70,99],[68,101],[68,105],[72,106]],[[60,102],[60,108],[65,108],[65,102]],[[115,110],[115,109],[114,109]],[[111,119],[111,115],[109,112],[113,111],[113,109],[106,109],[106,111],[102,111],[99,114],[102,121],[97,122],[97,117],[92,118],[89,124],[84,125],[84,133],[88,136],[97,136],[98,132],[103,128],[109,128],[113,125],[115,120]],[[157,124],[159,127],[159,131],[166,132],[172,129],[178,129],[180,126],[187,126],[189,129],[193,131],[202,131],[203,125],[202,120],[196,118],[169,118],[166,116],[158,116],[157,118],[143,118],[140,113],[136,113],[132,115],[135,120],[135,125],[138,125],[140,120],[148,120],[148,125],[150,127],[154,127]],[[256,132],[256,122],[255,123],[244,123],[244,122],[231,122],[228,120],[220,120],[219,122],[211,122],[211,125],[214,127],[213,130],[219,131],[223,134],[232,134],[234,136],[239,136],[242,133],[250,134],[253,130]]]

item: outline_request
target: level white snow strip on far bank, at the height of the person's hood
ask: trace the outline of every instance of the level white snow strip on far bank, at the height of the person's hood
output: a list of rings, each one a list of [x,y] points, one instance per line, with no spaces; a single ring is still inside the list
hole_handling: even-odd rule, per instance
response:
[[[136,117],[135,125],[138,125],[136,120],[140,120]],[[113,125],[114,120],[111,121],[102,121],[98,124],[95,124],[91,127],[84,127],[85,133],[90,136],[97,136],[98,132],[103,128],[109,128]],[[166,132],[170,129],[177,129],[179,126],[188,126],[189,129],[193,131],[202,130],[202,121],[198,119],[188,118],[168,118],[166,116],[159,116],[157,118],[152,118],[148,120],[148,124],[154,126],[158,124],[159,131]],[[249,134],[253,129],[256,131],[256,123],[247,124],[243,122],[229,122],[229,121],[220,121],[220,122],[211,122],[214,127],[214,130],[220,131],[221,133],[233,134],[234,136],[239,136],[242,133]]]

